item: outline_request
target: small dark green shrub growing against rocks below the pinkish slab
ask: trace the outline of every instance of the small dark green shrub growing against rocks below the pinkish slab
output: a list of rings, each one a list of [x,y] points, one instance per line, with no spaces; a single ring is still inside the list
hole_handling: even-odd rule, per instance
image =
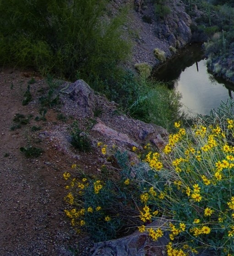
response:
[[[87,134],[82,130],[80,130],[77,121],[73,122],[72,124],[71,145],[75,147],[77,150],[81,150],[81,151],[91,150],[91,142],[88,139]]]

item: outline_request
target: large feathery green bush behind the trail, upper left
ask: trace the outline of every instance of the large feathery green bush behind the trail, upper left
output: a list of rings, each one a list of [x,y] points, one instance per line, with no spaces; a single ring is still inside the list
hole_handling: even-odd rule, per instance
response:
[[[107,78],[131,46],[120,37],[126,10],[107,21],[105,7],[105,0],[0,1],[0,65]]]

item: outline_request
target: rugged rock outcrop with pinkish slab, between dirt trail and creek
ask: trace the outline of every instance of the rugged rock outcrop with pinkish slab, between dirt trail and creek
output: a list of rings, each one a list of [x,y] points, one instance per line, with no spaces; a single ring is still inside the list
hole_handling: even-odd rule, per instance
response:
[[[166,129],[126,116],[118,111],[114,102],[95,94],[83,80],[62,87],[60,111],[78,122],[79,129],[88,136],[94,150],[97,142],[102,141],[109,148],[115,146],[121,151],[127,150],[129,159],[137,162],[136,154],[131,152],[133,147],[140,150],[142,145],[151,143],[161,148],[167,143],[169,134]],[[40,138],[47,139],[54,149],[80,159],[71,150],[71,134],[67,125],[52,126],[49,131],[42,132]]]

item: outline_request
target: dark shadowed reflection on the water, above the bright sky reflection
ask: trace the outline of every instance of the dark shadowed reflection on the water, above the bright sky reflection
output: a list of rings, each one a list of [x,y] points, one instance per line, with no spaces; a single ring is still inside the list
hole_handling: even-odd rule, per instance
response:
[[[204,58],[204,52],[201,45],[191,45],[185,48],[180,56],[166,62],[158,71],[153,72],[153,77],[158,81],[169,82],[169,88],[174,88],[174,82],[178,81],[181,72],[187,67],[191,67],[195,62]],[[196,66],[197,71],[198,67]]]

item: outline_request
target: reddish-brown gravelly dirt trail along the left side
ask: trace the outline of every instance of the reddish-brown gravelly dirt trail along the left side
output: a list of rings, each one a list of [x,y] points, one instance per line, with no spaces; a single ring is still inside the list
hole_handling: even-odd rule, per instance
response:
[[[13,70],[0,73],[0,255],[72,255],[68,246],[79,238],[63,212],[66,191],[62,174],[70,170],[74,159],[54,150],[46,139],[41,140],[43,133],[38,136],[53,122],[60,122],[56,120],[57,113],[49,110],[46,122],[36,122],[36,101],[22,106],[32,76],[30,72]],[[44,80],[35,79],[37,82],[31,85],[33,98],[45,86]],[[11,131],[16,113],[33,117],[29,124]],[[33,132],[32,126],[41,126],[42,130]],[[45,153],[26,158],[20,147],[29,145],[42,148]]]

